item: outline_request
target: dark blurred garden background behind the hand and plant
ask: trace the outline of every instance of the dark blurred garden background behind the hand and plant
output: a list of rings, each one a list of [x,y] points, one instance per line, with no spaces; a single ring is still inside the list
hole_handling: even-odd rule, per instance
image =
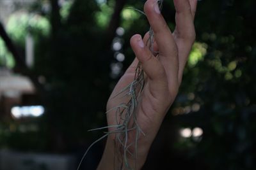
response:
[[[0,169],[72,170],[148,31],[145,0],[0,0]],[[198,1],[179,95],[143,169],[256,169],[256,1]],[[175,10],[164,1],[173,30]],[[104,141],[81,169],[95,169]]]

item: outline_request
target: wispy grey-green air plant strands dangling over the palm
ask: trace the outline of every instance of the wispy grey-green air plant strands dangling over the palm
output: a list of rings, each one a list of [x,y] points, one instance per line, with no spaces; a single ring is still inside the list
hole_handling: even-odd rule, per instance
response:
[[[159,5],[159,9],[161,10],[163,7],[163,0],[157,1]],[[139,11],[140,13],[143,13],[143,11],[133,9]],[[143,13],[144,14],[144,13]],[[150,49],[150,51],[157,56],[156,51],[154,51],[154,32],[152,31],[151,27],[149,29],[149,36],[147,39],[146,45]],[[138,65],[136,66],[135,73],[134,73],[134,80],[129,83],[124,89],[122,89],[120,92],[115,94],[113,97],[126,97],[128,98],[127,103],[120,103],[118,106],[115,106],[108,110],[106,113],[108,114],[110,111],[115,111],[115,125],[109,125],[106,127],[100,127],[97,129],[92,129],[89,131],[98,131],[102,129],[113,129],[109,130],[108,132],[105,132],[104,136],[97,139],[95,142],[92,143],[92,145],[89,146],[89,148],[86,150],[86,152],[83,155],[83,158],[81,159],[81,162],[79,166],[77,167],[77,170],[81,166],[81,163],[84,160],[84,157],[88,153],[88,150],[95,145],[95,143],[99,142],[101,139],[106,138],[110,134],[115,135],[115,162],[113,162],[115,165],[115,170],[136,170],[136,160],[137,160],[137,151],[138,151],[138,139],[140,138],[141,134],[145,136],[144,132],[140,128],[140,125],[138,124],[138,113],[136,111],[136,108],[138,104],[140,103],[140,97],[141,93],[143,92],[143,87],[145,85],[145,73],[141,67],[141,63],[138,62]],[[135,134],[134,141],[131,141],[129,139],[130,133]],[[135,165],[131,165],[129,163],[129,159],[135,160]],[[134,169],[132,169],[134,167]]]

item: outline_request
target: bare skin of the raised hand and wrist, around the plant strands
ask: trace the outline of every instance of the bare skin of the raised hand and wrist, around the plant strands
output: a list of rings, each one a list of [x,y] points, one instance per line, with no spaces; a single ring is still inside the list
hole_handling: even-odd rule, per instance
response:
[[[140,136],[138,141],[137,169],[141,169],[147,159],[148,150],[156,137],[163,119],[172,105],[180,82],[182,73],[188,59],[191,46],[195,41],[195,27],[193,24],[196,12],[196,0],[173,0],[175,5],[176,28],[171,32],[164,21],[163,16],[157,10],[157,1],[148,0],[145,3],[144,11],[148,22],[155,34],[154,50],[159,51],[155,57],[148,47],[145,46],[148,33],[142,39],[139,34],[132,36],[131,47],[136,59],[125,71],[125,74],[118,81],[113,93],[109,97],[107,110],[127,102],[128,99],[113,97],[134,80],[134,71],[141,62],[145,71],[145,87],[138,105],[138,124],[146,136]],[[108,125],[115,125],[115,111],[107,115]],[[113,129],[109,128],[109,131]],[[135,134],[129,132],[129,141],[134,141]],[[100,160],[97,170],[113,170],[115,134],[108,136],[106,148]],[[132,149],[131,149],[131,152]],[[134,160],[129,159],[131,165]],[[135,167],[133,167],[135,168]]]

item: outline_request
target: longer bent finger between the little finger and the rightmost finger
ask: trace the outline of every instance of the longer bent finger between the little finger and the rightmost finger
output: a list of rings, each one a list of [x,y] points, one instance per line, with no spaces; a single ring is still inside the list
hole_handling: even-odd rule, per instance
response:
[[[172,32],[161,15],[156,0],[148,0],[144,6],[148,22],[154,31],[154,38],[159,48],[159,60],[163,64],[170,89],[178,83],[179,59],[177,46]]]

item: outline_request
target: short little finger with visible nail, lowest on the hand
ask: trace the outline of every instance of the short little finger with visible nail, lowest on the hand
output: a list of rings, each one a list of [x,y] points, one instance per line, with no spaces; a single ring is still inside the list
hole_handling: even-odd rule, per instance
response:
[[[161,87],[163,87],[163,85],[168,86],[163,65],[152,55],[150,50],[148,50],[140,35],[136,34],[132,36],[131,47],[137,59],[140,60],[143,71],[147,74],[152,92],[154,92],[156,96],[159,95],[159,91],[162,90]]]

